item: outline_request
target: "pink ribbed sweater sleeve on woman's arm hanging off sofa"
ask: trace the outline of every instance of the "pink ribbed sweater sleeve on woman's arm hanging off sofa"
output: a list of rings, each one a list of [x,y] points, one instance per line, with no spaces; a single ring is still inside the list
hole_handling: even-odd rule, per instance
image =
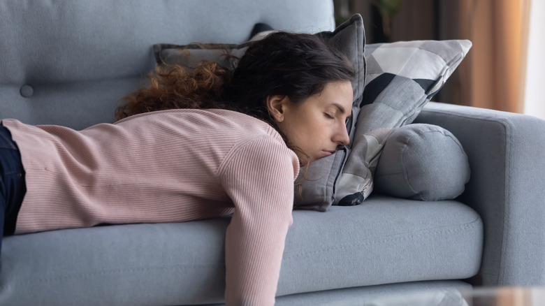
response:
[[[226,233],[226,305],[274,305],[299,162],[270,136],[231,153],[219,169],[235,204]]]

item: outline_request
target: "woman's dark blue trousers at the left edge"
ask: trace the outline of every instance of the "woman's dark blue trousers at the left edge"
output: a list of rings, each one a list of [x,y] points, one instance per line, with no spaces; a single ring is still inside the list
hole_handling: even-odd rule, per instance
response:
[[[11,133],[0,124],[0,254],[1,238],[15,233],[15,221],[27,185],[17,144]]]

